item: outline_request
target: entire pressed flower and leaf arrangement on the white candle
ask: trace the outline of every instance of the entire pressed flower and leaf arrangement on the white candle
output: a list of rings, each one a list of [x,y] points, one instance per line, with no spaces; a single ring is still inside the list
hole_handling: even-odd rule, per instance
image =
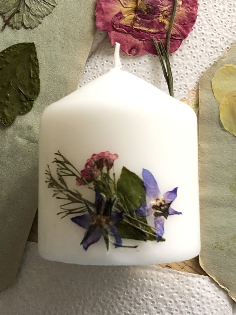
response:
[[[171,208],[177,198],[177,187],[160,193],[152,173],[143,169],[143,180],[123,167],[116,179],[114,162],[118,154],[109,151],[93,154],[80,172],[59,151],[55,153],[56,176],[49,166],[46,170],[46,183],[53,189],[53,197],[61,200],[58,212],[61,218],[70,218],[85,234],[81,245],[85,250],[100,238],[104,238],[107,250],[110,244],[123,246],[122,239],[139,241],[165,241],[164,222],[169,215],[182,214]],[[71,189],[66,178],[74,178]],[[86,186],[94,191],[94,202],[83,197],[76,186]],[[76,215],[76,216],[74,216]],[[147,221],[153,216],[153,226]]]

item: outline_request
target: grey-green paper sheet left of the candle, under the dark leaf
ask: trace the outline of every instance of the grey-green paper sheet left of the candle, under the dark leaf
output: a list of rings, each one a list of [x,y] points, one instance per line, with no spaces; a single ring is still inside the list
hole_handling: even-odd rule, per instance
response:
[[[62,0],[34,30],[7,26],[1,33],[0,51],[35,42],[41,91],[31,112],[0,126],[0,289],[14,283],[37,209],[40,114],[76,89],[93,41],[94,8],[94,0]]]

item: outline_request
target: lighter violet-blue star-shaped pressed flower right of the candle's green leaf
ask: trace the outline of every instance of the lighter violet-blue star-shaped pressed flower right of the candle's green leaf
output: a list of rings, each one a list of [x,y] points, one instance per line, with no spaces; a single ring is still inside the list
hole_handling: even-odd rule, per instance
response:
[[[154,216],[155,228],[158,229],[155,230],[155,234],[157,235],[157,242],[159,242],[165,232],[165,219],[167,219],[169,215],[182,215],[182,212],[171,208],[171,203],[177,197],[178,187],[162,195],[152,173],[147,169],[143,169],[142,175],[146,191],[146,202],[143,203],[136,212],[141,216],[151,214]]]

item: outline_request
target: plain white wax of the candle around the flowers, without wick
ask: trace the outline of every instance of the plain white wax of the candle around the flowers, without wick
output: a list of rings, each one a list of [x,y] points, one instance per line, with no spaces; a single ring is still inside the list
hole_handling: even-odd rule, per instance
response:
[[[197,118],[188,105],[115,67],[46,108],[39,150],[42,257],[86,265],[134,265],[183,261],[199,254]],[[111,245],[107,252],[101,238],[86,252],[80,245],[85,230],[70,220],[75,215],[64,219],[56,215],[61,200],[52,197],[53,190],[45,183],[47,164],[55,175],[51,162],[58,150],[78,170],[93,153],[117,153],[117,178],[123,166],[140,177],[145,168],[152,172],[162,193],[178,186],[171,207],[183,215],[165,220],[166,242],[123,239],[123,245],[138,248],[115,249]],[[154,225],[153,217],[148,221]]]

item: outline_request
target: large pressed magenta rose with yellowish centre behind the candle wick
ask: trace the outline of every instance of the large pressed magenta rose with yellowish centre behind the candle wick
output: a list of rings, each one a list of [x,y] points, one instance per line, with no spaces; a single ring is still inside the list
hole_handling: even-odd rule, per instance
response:
[[[108,31],[110,42],[128,55],[157,54],[152,37],[166,47],[174,0],[97,0],[96,25]],[[178,0],[170,52],[192,31],[198,0]]]

